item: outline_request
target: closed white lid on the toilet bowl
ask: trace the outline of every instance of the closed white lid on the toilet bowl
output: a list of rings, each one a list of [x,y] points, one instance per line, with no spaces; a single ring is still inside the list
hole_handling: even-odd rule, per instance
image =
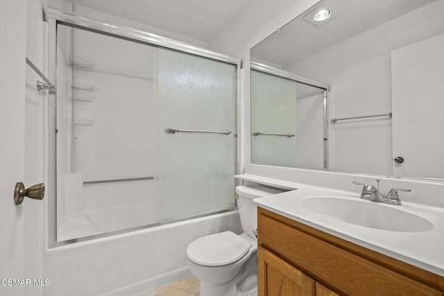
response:
[[[221,266],[238,261],[250,247],[244,238],[225,231],[194,240],[187,247],[187,256],[198,265]]]

